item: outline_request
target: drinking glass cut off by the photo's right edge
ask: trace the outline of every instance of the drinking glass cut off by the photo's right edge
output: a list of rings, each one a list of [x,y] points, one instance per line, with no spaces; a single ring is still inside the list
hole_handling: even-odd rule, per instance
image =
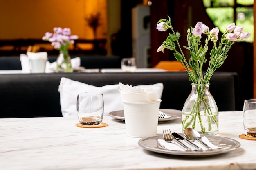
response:
[[[243,124],[245,135],[256,137],[256,99],[244,101]]]

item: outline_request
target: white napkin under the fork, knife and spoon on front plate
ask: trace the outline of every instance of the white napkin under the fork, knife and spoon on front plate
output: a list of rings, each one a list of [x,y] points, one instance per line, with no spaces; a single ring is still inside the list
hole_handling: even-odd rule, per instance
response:
[[[206,143],[208,146],[210,146],[212,149],[218,149],[220,147],[218,146],[215,146],[214,144],[212,144],[208,139],[207,137],[202,137],[201,140]],[[168,150],[173,150],[173,151],[186,151],[182,148],[180,148],[180,146],[178,146],[177,144],[175,143],[170,143],[170,142],[166,142],[165,140],[163,139],[158,139],[158,142],[161,146],[164,146],[164,148],[168,149]],[[185,144],[186,146],[189,146],[189,148],[193,150],[195,150],[194,148],[192,148],[189,144],[187,144],[186,142],[183,142],[183,141],[180,141],[182,142],[183,144]],[[207,147],[203,146],[202,144],[200,144],[199,142],[197,141],[191,141],[193,144],[196,144],[198,147],[202,148],[202,150],[207,150]]]

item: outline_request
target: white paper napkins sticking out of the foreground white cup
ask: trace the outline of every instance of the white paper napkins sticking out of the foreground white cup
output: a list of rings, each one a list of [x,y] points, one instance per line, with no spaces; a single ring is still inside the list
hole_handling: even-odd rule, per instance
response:
[[[132,87],[132,85],[124,85],[119,83],[121,97],[127,102],[155,102],[158,99],[158,93],[152,88],[141,89]]]

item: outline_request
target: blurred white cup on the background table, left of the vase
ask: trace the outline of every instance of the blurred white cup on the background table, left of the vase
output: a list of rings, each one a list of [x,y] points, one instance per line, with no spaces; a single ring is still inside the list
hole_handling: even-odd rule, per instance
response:
[[[47,61],[47,52],[28,52],[29,68],[31,73],[44,73]]]

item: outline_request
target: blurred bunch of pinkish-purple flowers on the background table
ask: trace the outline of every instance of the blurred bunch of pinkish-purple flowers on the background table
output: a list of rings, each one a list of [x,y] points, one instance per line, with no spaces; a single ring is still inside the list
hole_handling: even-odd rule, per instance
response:
[[[42,39],[51,42],[57,50],[67,50],[69,45],[78,39],[77,35],[71,35],[70,28],[54,27],[53,31],[54,33],[46,32]]]

